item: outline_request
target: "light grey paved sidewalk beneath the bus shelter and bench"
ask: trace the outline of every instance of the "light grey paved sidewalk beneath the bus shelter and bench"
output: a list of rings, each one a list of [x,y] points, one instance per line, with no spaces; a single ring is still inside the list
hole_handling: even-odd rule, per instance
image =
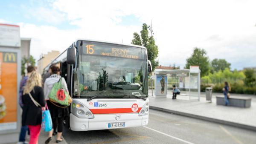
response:
[[[170,93],[167,98],[155,98],[154,95],[153,97],[149,96],[150,108],[256,130],[256,101],[254,101],[256,96],[254,95],[249,95],[252,98],[250,108],[240,108],[216,105],[215,94],[213,94],[212,103],[209,103],[205,97],[201,97],[200,101],[196,100],[197,97],[191,97],[193,100],[189,101],[189,96],[184,95],[177,95],[177,99],[172,100]],[[221,93],[218,93],[218,95],[221,95]]]

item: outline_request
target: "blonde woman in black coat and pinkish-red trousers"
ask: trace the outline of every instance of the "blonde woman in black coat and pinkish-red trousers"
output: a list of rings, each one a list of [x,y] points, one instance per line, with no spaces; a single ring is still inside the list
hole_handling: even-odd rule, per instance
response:
[[[30,131],[29,144],[37,144],[41,130],[42,107],[45,106],[44,89],[41,87],[41,75],[32,72],[23,89],[22,125],[27,125]]]

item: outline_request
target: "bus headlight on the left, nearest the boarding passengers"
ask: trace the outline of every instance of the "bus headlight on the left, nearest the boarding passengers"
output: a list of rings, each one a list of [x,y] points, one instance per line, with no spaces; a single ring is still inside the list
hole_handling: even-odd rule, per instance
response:
[[[90,109],[76,100],[73,100],[72,102],[72,114],[76,115],[78,118],[94,118]]]

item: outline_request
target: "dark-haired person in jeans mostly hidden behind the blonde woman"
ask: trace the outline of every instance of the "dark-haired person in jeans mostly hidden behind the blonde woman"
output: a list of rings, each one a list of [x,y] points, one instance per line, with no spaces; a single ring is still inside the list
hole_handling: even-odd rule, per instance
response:
[[[20,81],[20,92],[19,92],[19,104],[21,109],[23,109],[23,103],[22,103],[22,95],[23,95],[23,88],[26,85],[26,81],[28,80],[28,77],[30,76],[31,72],[35,71],[35,67],[34,66],[28,66],[27,67],[27,76],[24,76],[22,78],[22,80]],[[19,142],[17,144],[28,144],[26,142],[26,132],[28,131],[29,134],[29,130],[28,130],[28,126],[21,126],[20,128],[20,137],[19,137]]]

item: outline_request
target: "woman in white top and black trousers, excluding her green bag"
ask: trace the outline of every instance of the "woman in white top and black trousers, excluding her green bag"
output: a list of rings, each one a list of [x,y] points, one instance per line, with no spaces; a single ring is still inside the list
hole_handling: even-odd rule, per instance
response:
[[[52,117],[53,129],[49,132],[48,139],[45,141],[45,144],[48,144],[52,140],[53,130],[57,129],[57,127],[58,127],[58,133],[57,133],[56,143],[63,141],[63,139],[61,138],[62,131],[63,131],[63,121],[65,117],[69,116],[67,107],[64,107],[60,104],[49,101],[48,95],[52,89],[52,86],[56,82],[58,82],[61,78],[60,69],[58,68],[58,66],[51,66],[50,69],[52,73],[51,73],[51,76],[45,80],[44,94],[45,94],[45,99],[47,100],[47,106],[49,108],[49,111]],[[64,78],[62,78],[61,83],[62,83],[62,86],[64,86],[64,89],[68,92],[67,83]]]

